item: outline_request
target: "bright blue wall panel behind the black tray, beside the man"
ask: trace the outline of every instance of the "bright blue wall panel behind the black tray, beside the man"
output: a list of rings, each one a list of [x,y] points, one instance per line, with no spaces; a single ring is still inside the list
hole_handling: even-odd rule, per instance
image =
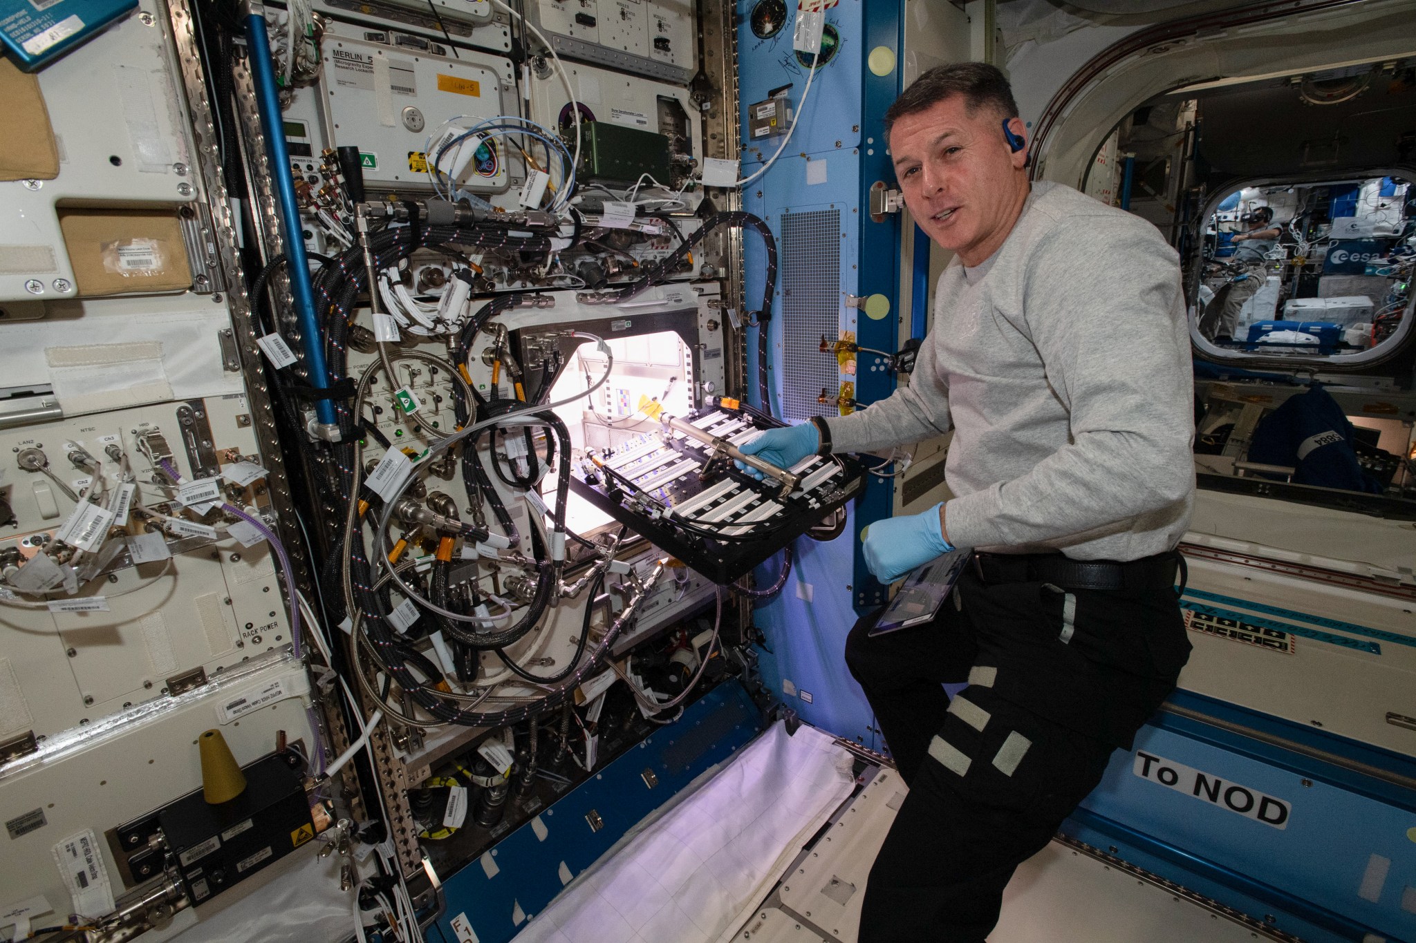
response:
[[[743,177],[758,171],[780,143],[780,139],[760,144],[748,140],[746,106],[766,99],[769,90],[789,82],[793,83],[792,100],[799,103],[807,72],[792,49],[796,4],[787,4],[786,24],[767,40],[752,33],[756,6],[756,0],[738,4],[739,100],[745,109],[741,124]],[[779,240],[783,213],[840,212],[841,297],[834,324],[845,331],[858,329],[858,310],[845,305],[845,294],[860,294],[861,270],[872,263],[861,253],[865,209],[861,205],[864,154],[860,146],[864,140],[865,93],[861,75],[868,51],[865,17],[874,6],[868,6],[868,0],[841,0],[827,11],[827,24],[840,37],[835,55],[817,69],[797,129],[782,157],[742,194],[743,208],[766,219]],[[893,3],[891,11],[895,16]],[[824,161],[824,182],[807,182],[809,161]],[[820,164],[813,168],[813,180],[820,181],[821,170]],[[762,297],[763,256],[755,239],[749,236],[746,243],[746,297],[755,300]],[[882,263],[874,260],[874,264]],[[818,342],[820,331],[804,331],[782,317],[779,294],[769,336],[770,387],[776,397],[772,407],[776,414],[782,414],[782,365],[789,353],[827,356],[816,351]],[[749,342],[748,363],[756,363],[755,338]],[[813,394],[816,392],[811,390]],[[765,650],[760,652],[763,681],[777,697],[809,722],[878,749],[881,744],[872,730],[869,705],[843,657],[845,635],[855,623],[857,519],[858,512],[852,509],[841,537],[831,543],[807,537],[796,541],[797,561],[792,577],[775,599],[758,607],[755,622],[766,636]],[[779,566],[780,557],[759,568],[759,584],[770,582]],[[810,587],[810,602],[801,598],[807,594],[803,584]]]

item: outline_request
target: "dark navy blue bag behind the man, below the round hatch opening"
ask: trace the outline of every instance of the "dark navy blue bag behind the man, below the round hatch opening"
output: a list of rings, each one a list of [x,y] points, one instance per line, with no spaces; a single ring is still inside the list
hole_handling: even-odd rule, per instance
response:
[[[1382,492],[1381,484],[1362,471],[1352,450],[1352,423],[1321,386],[1289,397],[1259,421],[1249,445],[1249,461],[1297,468],[1300,485]]]

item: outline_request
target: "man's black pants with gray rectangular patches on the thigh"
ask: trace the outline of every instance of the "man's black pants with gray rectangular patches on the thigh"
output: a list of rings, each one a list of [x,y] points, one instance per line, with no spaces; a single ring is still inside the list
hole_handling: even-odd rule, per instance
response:
[[[929,625],[845,642],[909,785],[871,869],[861,943],[978,943],[1014,868],[1100,782],[1189,657],[1175,591],[984,585]],[[950,703],[942,684],[969,687]]]

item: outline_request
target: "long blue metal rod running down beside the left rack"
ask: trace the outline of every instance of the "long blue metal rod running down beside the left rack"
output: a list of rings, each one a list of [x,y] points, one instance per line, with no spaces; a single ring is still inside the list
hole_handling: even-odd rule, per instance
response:
[[[261,130],[265,134],[266,157],[270,161],[270,180],[275,182],[275,201],[280,209],[280,229],[285,239],[286,276],[290,281],[290,295],[295,300],[295,314],[300,321],[300,344],[304,349],[304,366],[309,370],[310,386],[317,390],[329,387],[329,369],[324,363],[324,341],[320,320],[314,311],[314,293],[310,288],[310,263],[304,254],[304,235],[300,226],[300,209],[295,198],[295,180],[290,177],[290,154],[285,147],[285,126],[280,120],[280,96],[276,89],[275,68],[270,61],[270,41],[266,37],[265,7],[244,4],[246,10],[246,48],[251,58],[251,78],[256,86],[256,100],[261,110]],[[370,293],[377,288],[370,284]],[[314,400],[314,414],[329,430],[337,428],[334,403]]]

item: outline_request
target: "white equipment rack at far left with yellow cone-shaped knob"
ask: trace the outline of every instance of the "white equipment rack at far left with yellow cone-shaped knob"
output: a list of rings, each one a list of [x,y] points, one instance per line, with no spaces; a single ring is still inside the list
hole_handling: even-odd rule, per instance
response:
[[[195,25],[180,0],[140,3],[41,64],[14,99],[30,163],[0,148],[0,912],[18,936],[217,913],[361,810],[316,795],[347,744],[292,605],[299,532]]]

